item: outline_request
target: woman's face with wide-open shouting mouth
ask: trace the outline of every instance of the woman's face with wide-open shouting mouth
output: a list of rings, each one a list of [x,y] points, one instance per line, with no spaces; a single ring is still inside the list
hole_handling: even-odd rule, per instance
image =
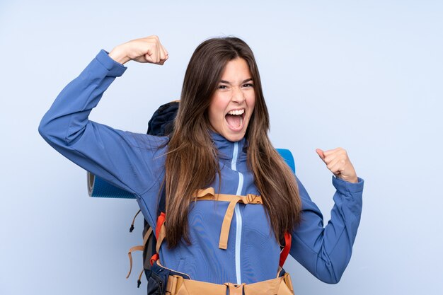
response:
[[[245,59],[229,61],[209,105],[209,122],[229,141],[243,139],[254,111],[255,91]]]

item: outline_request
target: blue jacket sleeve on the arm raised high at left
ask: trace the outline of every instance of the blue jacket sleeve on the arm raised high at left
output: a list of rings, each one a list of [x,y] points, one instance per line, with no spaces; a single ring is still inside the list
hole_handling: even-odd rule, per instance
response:
[[[38,131],[60,154],[109,183],[136,195],[158,175],[155,158],[165,138],[113,129],[88,120],[103,92],[126,70],[101,50],[57,96]]]

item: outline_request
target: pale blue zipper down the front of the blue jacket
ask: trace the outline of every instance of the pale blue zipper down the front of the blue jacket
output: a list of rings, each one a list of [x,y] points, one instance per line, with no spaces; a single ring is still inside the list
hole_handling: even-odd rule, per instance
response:
[[[231,161],[231,169],[237,171],[237,158],[238,158],[238,142],[234,142],[234,151],[232,153],[232,161]],[[243,174],[238,172],[238,186],[236,195],[241,195],[241,191],[243,190]],[[240,204],[236,204],[235,207],[236,212],[236,252],[235,252],[235,260],[236,260],[236,279],[237,284],[241,284],[241,268],[240,268],[240,246],[241,246],[241,228],[243,220],[241,218],[240,212]]]

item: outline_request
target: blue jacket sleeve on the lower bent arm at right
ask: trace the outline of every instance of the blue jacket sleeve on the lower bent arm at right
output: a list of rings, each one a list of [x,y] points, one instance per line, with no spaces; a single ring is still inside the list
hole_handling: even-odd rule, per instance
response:
[[[364,181],[348,183],[333,176],[336,192],[330,221],[323,215],[297,178],[302,202],[301,224],[292,232],[291,255],[323,282],[335,284],[351,258],[362,214]]]

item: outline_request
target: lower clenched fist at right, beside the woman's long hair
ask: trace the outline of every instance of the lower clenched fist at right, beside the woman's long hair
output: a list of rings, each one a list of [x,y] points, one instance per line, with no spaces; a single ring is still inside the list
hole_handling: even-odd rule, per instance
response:
[[[350,183],[357,183],[357,173],[355,173],[354,166],[347,156],[347,153],[342,148],[330,149],[329,151],[322,151],[316,149],[318,156],[326,163],[326,167],[330,172],[338,178],[341,178]]]

